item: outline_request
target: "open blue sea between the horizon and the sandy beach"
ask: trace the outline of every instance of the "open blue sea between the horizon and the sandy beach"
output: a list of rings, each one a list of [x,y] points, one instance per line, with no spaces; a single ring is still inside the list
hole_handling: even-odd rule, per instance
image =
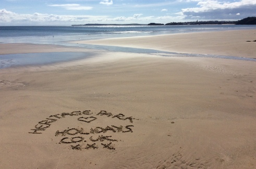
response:
[[[248,29],[256,29],[256,25],[0,27],[0,43],[58,44],[110,37]]]

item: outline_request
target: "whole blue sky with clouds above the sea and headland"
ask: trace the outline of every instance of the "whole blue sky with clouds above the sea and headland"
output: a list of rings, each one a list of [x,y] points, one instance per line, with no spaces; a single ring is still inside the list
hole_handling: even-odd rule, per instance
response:
[[[0,0],[0,26],[169,23],[256,16],[256,0]]]

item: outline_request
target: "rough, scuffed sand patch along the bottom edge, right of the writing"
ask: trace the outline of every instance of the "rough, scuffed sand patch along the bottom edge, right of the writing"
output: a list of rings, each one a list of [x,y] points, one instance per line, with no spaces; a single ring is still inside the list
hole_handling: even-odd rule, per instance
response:
[[[132,154],[132,157],[127,157],[124,152]],[[206,158],[197,154],[200,153],[187,151],[177,145],[165,147],[163,143],[161,146],[152,145],[150,148],[136,148],[128,152],[121,149],[118,160],[113,159],[113,162],[115,161],[115,168],[222,168],[224,160]],[[124,164],[122,161],[132,161],[132,163]]]

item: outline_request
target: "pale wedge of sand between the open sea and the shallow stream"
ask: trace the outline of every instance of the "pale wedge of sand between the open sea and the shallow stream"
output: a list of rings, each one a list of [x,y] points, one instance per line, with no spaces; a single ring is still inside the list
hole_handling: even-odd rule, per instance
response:
[[[72,43],[147,48],[183,54],[255,58],[256,43],[247,42],[254,41],[252,35],[256,35],[256,30],[118,37]]]

